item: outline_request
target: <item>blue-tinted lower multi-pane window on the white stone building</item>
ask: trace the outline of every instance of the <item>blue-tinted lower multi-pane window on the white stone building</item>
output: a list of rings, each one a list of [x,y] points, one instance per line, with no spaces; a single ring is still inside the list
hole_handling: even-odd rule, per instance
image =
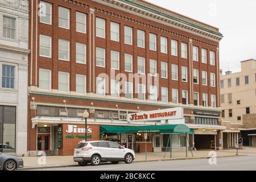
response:
[[[15,67],[2,65],[2,88],[14,89]]]

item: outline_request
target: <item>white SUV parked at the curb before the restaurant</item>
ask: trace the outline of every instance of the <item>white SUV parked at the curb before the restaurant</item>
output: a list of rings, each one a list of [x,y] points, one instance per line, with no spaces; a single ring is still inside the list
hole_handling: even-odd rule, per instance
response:
[[[77,144],[73,155],[73,160],[78,162],[79,166],[86,166],[88,163],[97,166],[101,162],[118,164],[121,161],[130,164],[134,159],[133,150],[110,141],[82,141]]]

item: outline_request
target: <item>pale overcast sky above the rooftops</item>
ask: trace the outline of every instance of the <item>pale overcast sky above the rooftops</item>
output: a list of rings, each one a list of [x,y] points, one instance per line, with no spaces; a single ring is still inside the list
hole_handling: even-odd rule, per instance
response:
[[[240,61],[256,59],[255,0],[147,0],[220,28],[220,68],[241,71]]]

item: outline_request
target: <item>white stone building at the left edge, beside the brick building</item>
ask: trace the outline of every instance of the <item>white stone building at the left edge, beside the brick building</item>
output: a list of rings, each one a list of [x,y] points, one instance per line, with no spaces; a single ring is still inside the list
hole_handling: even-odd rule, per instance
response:
[[[28,1],[0,0],[0,152],[27,155]]]

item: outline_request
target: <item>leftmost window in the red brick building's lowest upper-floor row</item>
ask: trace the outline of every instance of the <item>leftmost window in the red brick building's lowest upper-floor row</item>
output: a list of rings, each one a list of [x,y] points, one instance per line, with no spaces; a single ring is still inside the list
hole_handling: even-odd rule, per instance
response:
[[[51,90],[51,70],[39,69],[39,88],[42,90]]]

